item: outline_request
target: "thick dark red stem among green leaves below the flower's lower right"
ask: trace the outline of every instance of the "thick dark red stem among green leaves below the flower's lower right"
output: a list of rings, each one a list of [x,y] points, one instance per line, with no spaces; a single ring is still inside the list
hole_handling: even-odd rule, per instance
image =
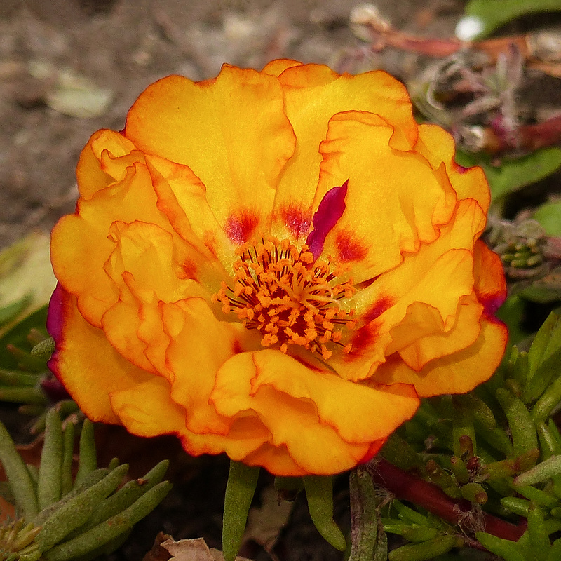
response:
[[[393,466],[383,458],[377,459],[368,467],[374,482],[391,491],[398,499],[426,508],[442,520],[459,525],[463,532],[473,532],[473,528],[467,522],[468,515],[473,512],[469,501],[451,499],[440,487]],[[475,513],[474,518],[478,518]],[[511,541],[517,541],[526,530],[525,521],[515,526],[485,512],[482,513],[482,525],[485,532]],[[469,542],[468,545],[473,546]]]

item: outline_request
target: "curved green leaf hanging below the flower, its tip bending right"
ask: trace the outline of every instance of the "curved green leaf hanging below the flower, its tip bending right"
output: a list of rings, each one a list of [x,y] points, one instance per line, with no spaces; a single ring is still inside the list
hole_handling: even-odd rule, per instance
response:
[[[305,475],[304,489],[313,524],[323,539],[339,551],[346,548],[345,537],[333,520],[333,478],[325,475]]]

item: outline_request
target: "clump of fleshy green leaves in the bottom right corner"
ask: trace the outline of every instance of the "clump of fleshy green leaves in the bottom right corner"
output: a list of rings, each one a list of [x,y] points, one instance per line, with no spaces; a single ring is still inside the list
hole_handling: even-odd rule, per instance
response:
[[[561,539],[561,433],[552,414],[561,403],[561,315],[548,316],[527,351],[511,346],[499,371],[464,396],[421,403],[417,415],[388,441],[393,465],[440,487],[451,517],[431,514],[431,500],[393,500],[381,509],[386,532],[410,543],[391,561],[432,559],[476,539],[505,561],[556,560]],[[375,469],[375,467],[374,467]],[[454,504],[465,504],[461,516]],[[428,508],[428,510],[426,510]],[[442,510],[442,504],[440,505]],[[460,508],[459,506],[455,508]],[[508,532],[485,516],[503,520]],[[539,551],[539,553],[536,553]]]

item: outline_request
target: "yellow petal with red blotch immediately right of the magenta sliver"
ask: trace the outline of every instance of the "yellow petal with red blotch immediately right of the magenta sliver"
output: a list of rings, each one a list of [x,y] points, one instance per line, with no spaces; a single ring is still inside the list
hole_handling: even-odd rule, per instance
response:
[[[335,115],[320,152],[320,198],[349,179],[346,209],[325,240],[325,255],[349,263],[355,283],[392,269],[403,252],[431,242],[449,222],[456,195],[445,170],[412,151],[389,147],[393,128],[378,115]]]

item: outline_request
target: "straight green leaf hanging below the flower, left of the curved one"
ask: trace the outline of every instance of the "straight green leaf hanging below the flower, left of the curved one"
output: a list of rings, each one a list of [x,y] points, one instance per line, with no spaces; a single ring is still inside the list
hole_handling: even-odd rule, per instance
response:
[[[222,551],[225,561],[234,561],[238,555],[258,477],[258,467],[246,466],[241,461],[230,462],[222,519]]]

